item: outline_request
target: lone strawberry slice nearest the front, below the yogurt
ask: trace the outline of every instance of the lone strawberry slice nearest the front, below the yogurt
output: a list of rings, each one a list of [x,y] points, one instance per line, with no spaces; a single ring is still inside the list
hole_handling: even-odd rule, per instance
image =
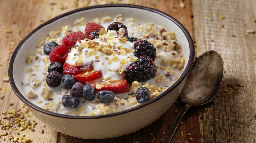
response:
[[[118,80],[116,82],[89,81],[89,82],[86,82],[86,84],[93,86],[96,92],[99,92],[102,90],[108,90],[117,94],[117,93],[125,93],[130,91],[130,85],[125,78]],[[96,88],[96,84],[103,85],[103,87],[101,87],[101,89],[97,89],[98,87]]]

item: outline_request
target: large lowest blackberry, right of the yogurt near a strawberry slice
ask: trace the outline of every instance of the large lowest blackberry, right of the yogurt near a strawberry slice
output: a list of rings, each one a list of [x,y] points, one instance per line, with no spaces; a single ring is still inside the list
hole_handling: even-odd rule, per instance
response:
[[[134,81],[145,82],[156,76],[157,68],[149,56],[140,56],[125,69],[125,78],[131,84]]]

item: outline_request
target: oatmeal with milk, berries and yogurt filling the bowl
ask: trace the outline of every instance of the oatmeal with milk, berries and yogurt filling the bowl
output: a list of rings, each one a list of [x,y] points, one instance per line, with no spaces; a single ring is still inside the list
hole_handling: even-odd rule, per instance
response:
[[[185,58],[174,32],[117,15],[49,31],[26,61],[22,83],[32,103],[95,116],[157,97],[179,78]]]

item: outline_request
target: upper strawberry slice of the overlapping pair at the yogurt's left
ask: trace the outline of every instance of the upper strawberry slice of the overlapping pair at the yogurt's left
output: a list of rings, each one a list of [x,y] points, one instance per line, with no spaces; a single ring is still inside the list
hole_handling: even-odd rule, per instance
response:
[[[64,63],[63,65],[63,74],[76,75],[81,72],[91,71],[93,70],[93,66],[91,65],[83,65],[76,67],[75,65],[70,65],[68,63]]]

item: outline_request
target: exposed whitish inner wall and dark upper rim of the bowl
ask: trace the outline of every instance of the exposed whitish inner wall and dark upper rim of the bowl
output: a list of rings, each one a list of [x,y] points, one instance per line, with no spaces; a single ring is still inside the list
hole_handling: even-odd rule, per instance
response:
[[[72,25],[73,22],[81,17],[85,17],[85,21],[93,21],[96,17],[102,18],[104,16],[111,16],[116,17],[118,14],[123,15],[125,18],[134,18],[135,20],[139,21],[140,23],[154,23],[156,25],[160,25],[164,27],[168,31],[173,31],[176,34],[176,39],[178,44],[181,45],[182,51],[184,53],[185,65],[184,70],[180,78],[184,78],[187,72],[190,70],[193,58],[194,58],[194,51],[193,49],[193,41],[186,31],[186,29],[175,19],[170,17],[167,14],[164,14],[160,11],[145,8],[141,6],[133,6],[133,5],[103,5],[103,6],[95,6],[95,7],[88,7],[83,9],[77,9],[63,15],[57,16],[46,23],[40,25],[35,30],[33,30],[21,43],[17,46],[14,54],[11,58],[10,70],[12,71],[13,76],[10,78],[10,81],[13,80],[14,83],[11,82],[11,85],[16,92],[16,94],[25,102],[29,104],[33,108],[38,108],[36,105],[32,105],[27,99],[22,97],[26,95],[25,88],[21,83],[22,75],[27,70],[25,69],[26,64],[26,57],[28,52],[33,52],[34,49],[37,47],[38,43],[41,40],[45,40],[45,37],[48,36],[50,31],[57,31],[62,26],[65,25]],[[129,32],[129,31],[128,31]],[[176,82],[180,82],[179,79]],[[177,83],[179,84],[179,83]],[[173,85],[174,86],[174,85]],[[170,87],[172,88],[172,87]],[[170,91],[170,90],[169,90]],[[168,92],[168,90],[166,91]],[[161,95],[160,95],[161,96]],[[157,100],[157,99],[153,99]],[[49,111],[44,110],[45,113]],[[56,113],[55,113],[56,114]]]

